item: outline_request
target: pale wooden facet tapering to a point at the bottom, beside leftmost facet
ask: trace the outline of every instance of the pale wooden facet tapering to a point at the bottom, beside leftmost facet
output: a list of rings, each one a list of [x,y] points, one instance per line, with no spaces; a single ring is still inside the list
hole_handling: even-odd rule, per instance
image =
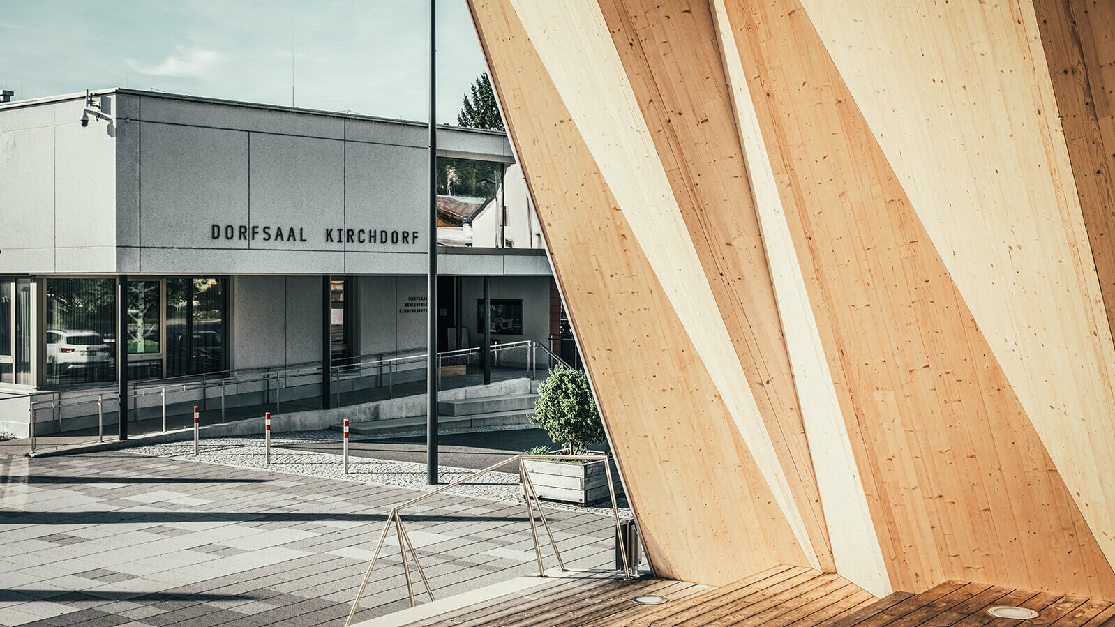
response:
[[[511,3],[775,502],[808,562],[820,568],[799,502],[794,501],[770,431],[733,349],[730,330],[717,308],[714,285],[698,278],[696,242],[687,233],[665,166],[646,158],[655,153],[651,129],[604,16],[592,4]],[[576,62],[586,51],[598,60],[591,67]]]

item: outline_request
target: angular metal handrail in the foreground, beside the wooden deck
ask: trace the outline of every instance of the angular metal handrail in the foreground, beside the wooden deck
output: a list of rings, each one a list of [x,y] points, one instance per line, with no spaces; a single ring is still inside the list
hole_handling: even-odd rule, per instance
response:
[[[569,449],[562,449],[562,451],[564,450]],[[560,453],[560,452],[561,451],[554,451],[554,453]],[[550,523],[546,521],[546,516],[542,512],[542,502],[539,500],[537,492],[534,491],[534,483],[531,482],[531,476],[526,471],[525,466],[523,464],[524,461],[535,460],[535,459],[536,460],[559,459],[568,461],[571,460],[603,461],[604,473],[608,478],[608,492],[612,499],[612,515],[615,518],[615,532],[617,535],[621,533],[620,511],[619,507],[615,504],[615,488],[612,486],[612,470],[609,464],[609,458],[607,455],[566,455],[566,454],[554,454],[554,453],[544,455],[532,455],[523,453],[512,458],[507,458],[504,461],[501,461],[500,463],[489,466],[484,470],[476,471],[473,474],[465,477],[464,479],[454,481],[453,483],[448,483],[446,486],[442,486],[436,490],[432,490],[429,492],[426,492],[425,494],[421,494],[420,497],[416,497],[414,499],[410,499],[409,501],[406,501],[404,503],[397,504],[394,508],[391,508],[391,513],[390,516],[387,517],[387,523],[384,526],[384,532],[380,533],[379,542],[376,545],[376,551],[371,556],[371,562],[368,565],[368,571],[363,576],[363,582],[360,585],[360,591],[357,592],[356,600],[352,601],[352,610],[349,613],[348,620],[345,621],[345,625],[346,626],[350,625],[352,623],[352,617],[356,616],[356,610],[360,606],[360,598],[363,596],[363,590],[365,588],[368,587],[368,580],[371,578],[371,569],[376,567],[376,560],[379,558],[379,551],[384,548],[384,541],[387,540],[387,532],[390,531],[392,522],[395,523],[395,532],[399,538],[399,557],[403,559],[403,574],[404,576],[406,576],[407,579],[407,592],[410,596],[410,607],[415,607],[417,604],[415,601],[414,586],[410,582],[410,567],[407,565],[407,550],[409,550],[410,552],[410,558],[414,559],[415,568],[417,568],[419,577],[421,577],[423,585],[426,587],[426,594],[429,595],[429,600],[434,600],[434,592],[429,588],[429,581],[426,579],[426,574],[423,572],[421,564],[418,562],[418,553],[415,552],[414,546],[410,545],[410,539],[407,538],[407,531],[403,526],[403,518],[399,516],[399,510],[413,506],[415,503],[421,502],[433,497],[434,494],[438,494],[448,490],[449,488],[455,488],[457,486],[460,486],[462,483],[472,481],[477,477],[487,474],[488,472],[493,472],[494,470],[515,461],[518,462],[518,476],[520,480],[523,483],[524,499],[526,500],[526,516],[527,519],[530,519],[531,521],[531,536],[534,538],[534,553],[539,561],[539,577],[545,577],[546,574],[545,574],[545,568],[542,565],[542,549],[539,546],[537,530],[534,527],[534,510],[531,508],[532,498],[534,499],[534,507],[537,508],[539,510],[539,518],[542,519],[542,526],[546,530],[546,536],[550,537],[550,546],[554,550],[554,557],[558,558],[558,568],[561,569],[563,572],[568,571],[569,569],[566,569],[564,562],[562,562],[561,553],[558,551],[558,543],[554,541],[554,536],[550,531]],[[406,548],[404,548],[404,545],[406,545]],[[620,546],[620,555],[623,558],[623,578],[631,579],[631,566],[630,566],[631,561],[627,555],[626,542],[619,542],[619,546]]]

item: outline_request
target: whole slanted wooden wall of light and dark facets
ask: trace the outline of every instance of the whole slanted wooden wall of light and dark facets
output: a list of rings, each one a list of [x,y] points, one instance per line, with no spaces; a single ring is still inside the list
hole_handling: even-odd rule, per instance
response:
[[[471,7],[661,574],[1115,598],[1113,6]]]

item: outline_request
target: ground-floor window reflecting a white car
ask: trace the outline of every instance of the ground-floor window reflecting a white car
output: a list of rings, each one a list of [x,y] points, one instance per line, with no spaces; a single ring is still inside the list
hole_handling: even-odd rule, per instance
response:
[[[30,282],[26,286],[19,285],[19,295],[17,341],[22,344],[25,335],[28,340],[26,365],[29,376]],[[47,280],[47,384],[97,383],[116,379],[115,314],[115,280]],[[22,327],[21,319],[26,319],[22,320]],[[22,333],[25,329],[26,334]],[[22,349],[22,345],[19,347]],[[22,361],[20,355],[17,372],[22,370]]]

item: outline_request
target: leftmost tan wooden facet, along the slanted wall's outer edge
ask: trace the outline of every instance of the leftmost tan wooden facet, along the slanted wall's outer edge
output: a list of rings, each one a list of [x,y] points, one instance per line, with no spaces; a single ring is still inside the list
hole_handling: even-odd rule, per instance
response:
[[[807,564],[516,11],[471,7],[656,569],[716,584]]]

